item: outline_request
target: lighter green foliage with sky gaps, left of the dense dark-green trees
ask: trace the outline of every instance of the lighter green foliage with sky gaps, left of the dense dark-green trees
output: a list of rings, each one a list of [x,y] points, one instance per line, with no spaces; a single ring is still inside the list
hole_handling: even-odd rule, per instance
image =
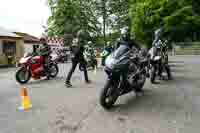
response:
[[[77,31],[84,29],[95,38],[103,36],[105,44],[110,40],[106,31],[119,32],[128,25],[128,5],[127,0],[48,0],[52,12],[48,35],[64,37],[65,45],[70,45]]]

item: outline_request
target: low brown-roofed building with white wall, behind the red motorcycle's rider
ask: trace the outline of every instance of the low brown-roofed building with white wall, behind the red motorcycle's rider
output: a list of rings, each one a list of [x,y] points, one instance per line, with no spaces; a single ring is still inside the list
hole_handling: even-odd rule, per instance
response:
[[[15,32],[15,34],[23,37],[25,53],[36,52],[36,49],[39,47],[39,45],[41,45],[40,39],[37,37],[22,32]]]

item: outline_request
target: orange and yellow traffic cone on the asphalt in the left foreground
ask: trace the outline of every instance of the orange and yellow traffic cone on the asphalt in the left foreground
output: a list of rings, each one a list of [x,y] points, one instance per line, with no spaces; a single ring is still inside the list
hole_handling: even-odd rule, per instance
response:
[[[21,111],[28,110],[32,107],[30,98],[28,96],[27,88],[22,88],[20,91],[21,95],[21,106],[18,108]]]

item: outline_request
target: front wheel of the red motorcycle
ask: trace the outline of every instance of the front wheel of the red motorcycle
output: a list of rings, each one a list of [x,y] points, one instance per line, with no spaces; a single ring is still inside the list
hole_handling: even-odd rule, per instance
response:
[[[16,72],[15,78],[20,84],[26,84],[31,79],[31,73],[24,67],[21,67]]]

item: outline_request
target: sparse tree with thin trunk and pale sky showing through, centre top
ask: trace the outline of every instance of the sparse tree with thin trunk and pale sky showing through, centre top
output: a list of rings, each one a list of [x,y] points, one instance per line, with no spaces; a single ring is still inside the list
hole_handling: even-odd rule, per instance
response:
[[[110,40],[109,34],[119,37],[120,29],[129,25],[129,3],[128,0],[95,0],[95,5],[97,16],[103,19],[103,36],[106,44],[107,40]]]

